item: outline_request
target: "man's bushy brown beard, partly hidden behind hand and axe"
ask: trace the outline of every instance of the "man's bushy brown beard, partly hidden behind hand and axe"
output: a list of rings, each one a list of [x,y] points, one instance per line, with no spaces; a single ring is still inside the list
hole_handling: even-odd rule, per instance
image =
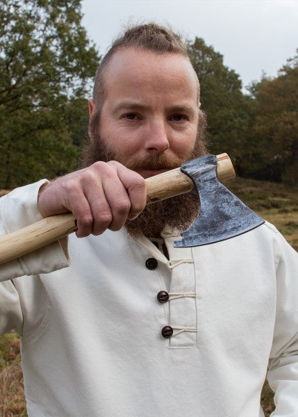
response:
[[[189,159],[206,154],[207,151],[204,140],[206,117],[201,111],[199,116],[199,126],[194,148],[185,160],[168,158],[164,154],[160,154],[158,156],[149,156],[145,160],[135,159],[124,165],[135,171],[141,168],[174,169],[181,166],[181,163],[188,161]],[[100,114],[95,113],[90,120],[89,140],[83,149],[80,167],[88,167],[97,161],[118,161],[119,163],[122,163],[121,158],[108,148],[107,140],[101,138],[99,135],[99,118]],[[138,215],[138,218],[126,221],[125,228],[131,236],[142,233],[148,238],[158,238],[166,224],[177,231],[187,229],[197,217],[198,213],[199,199],[197,195],[192,193],[177,195],[176,197],[147,205],[142,213]]]

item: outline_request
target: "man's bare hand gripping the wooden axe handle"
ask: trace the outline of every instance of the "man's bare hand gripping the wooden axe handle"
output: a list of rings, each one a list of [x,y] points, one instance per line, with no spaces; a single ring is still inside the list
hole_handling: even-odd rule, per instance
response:
[[[47,217],[71,211],[76,236],[119,230],[146,205],[146,183],[137,172],[116,161],[96,162],[40,188],[38,209]]]

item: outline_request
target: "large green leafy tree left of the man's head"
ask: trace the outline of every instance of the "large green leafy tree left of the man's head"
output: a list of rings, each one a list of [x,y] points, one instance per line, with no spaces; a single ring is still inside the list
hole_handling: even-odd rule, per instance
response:
[[[99,64],[81,19],[81,0],[1,1],[0,187],[76,165]]]

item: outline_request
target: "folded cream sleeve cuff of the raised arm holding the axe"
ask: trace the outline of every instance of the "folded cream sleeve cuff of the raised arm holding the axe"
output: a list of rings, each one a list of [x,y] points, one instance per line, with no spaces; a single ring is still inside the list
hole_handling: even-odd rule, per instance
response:
[[[28,186],[16,188],[12,193],[1,197],[0,236],[42,219],[37,205],[38,190],[46,181],[41,180]],[[67,267],[69,263],[65,240],[66,238],[19,259],[3,263],[0,265],[0,281],[22,277],[23,275],[45,274]]]

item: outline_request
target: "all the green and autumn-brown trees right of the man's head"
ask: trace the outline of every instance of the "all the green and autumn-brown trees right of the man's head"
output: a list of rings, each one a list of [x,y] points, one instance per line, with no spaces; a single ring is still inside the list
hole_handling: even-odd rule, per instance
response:
[[[298,180],[298,55],[274,79],[263,75],[243,95],[238,74],[203,39],[190,44],[208,116],[210,152],[231,155],[238,174],[271,181]]]

